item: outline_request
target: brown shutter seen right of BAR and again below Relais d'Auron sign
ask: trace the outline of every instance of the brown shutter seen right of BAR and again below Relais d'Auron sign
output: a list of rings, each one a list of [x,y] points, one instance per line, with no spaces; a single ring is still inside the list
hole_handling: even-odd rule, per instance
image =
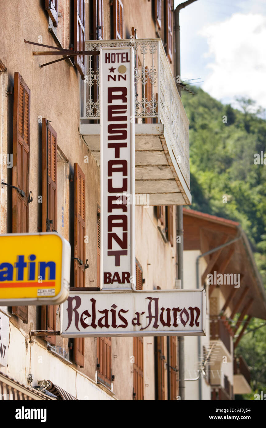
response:
[[[142,268],[136,260],[136,290],[142,290]],[[133,337],[133,399],[144,400],[143,337]]]

